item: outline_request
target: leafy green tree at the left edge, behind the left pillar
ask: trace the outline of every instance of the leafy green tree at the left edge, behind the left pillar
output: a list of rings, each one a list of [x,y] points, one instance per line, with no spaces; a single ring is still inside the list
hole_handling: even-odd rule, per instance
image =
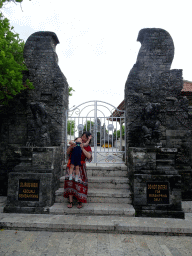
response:
[[[23,0],[15,0],[22,2]],[[0,0],[0,8],[10,0]],[[27,70],[23,59],[24,42],[10,27],[9,20],[0,12],[0,104],[7,105],[10,99],[25,89],[33,89],[27,79],[23,83],[22,71]]]

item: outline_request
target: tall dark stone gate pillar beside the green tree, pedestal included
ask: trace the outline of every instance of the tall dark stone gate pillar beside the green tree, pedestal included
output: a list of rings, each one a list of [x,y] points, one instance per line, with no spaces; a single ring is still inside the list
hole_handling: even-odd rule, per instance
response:
[[[59,187],[67,138],[68,84],[58,66],[53,32],[36,32],[26,41],[24,59],[35,87],[25,97],[25,134],[20,164],[9,173],[5,212],[47,211]]]

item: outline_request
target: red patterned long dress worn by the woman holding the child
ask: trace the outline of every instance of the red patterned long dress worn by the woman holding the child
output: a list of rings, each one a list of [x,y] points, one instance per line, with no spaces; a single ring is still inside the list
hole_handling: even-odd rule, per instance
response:
[[[92,154],[91,147],[87,146],[84,149]],[[81,166],[79,168],[79,180],[75,181],[75,172],[73,171],[73,178],[69,180],[69,170],[71,166],[71,153],[69,154],[69,160],[65,172],[65,182],[64,182],[64,194],[63,196],[68,198],[69,195],[76,197],[78,202],[87,203],[87,192],[88,192],[88,178],[86,171],[86,162],[91,162],[92,156],[88,159],[84,153],[81,154]],[[75,168],[74,168],[75,170]]]

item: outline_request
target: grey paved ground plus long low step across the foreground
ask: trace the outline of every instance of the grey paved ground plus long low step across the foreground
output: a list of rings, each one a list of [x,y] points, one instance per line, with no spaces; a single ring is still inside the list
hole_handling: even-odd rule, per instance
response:
[[[182,220],[11,214],[0,199],[0,256],[192,255],[192,202]]]

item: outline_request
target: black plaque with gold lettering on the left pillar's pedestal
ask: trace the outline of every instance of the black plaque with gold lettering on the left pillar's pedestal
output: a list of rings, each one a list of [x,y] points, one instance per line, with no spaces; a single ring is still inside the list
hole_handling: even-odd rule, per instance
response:
[[[19,180],[19,201],[39,201],[39,180]]]

